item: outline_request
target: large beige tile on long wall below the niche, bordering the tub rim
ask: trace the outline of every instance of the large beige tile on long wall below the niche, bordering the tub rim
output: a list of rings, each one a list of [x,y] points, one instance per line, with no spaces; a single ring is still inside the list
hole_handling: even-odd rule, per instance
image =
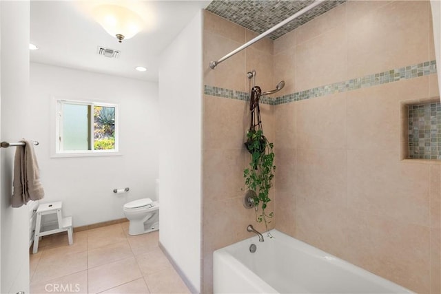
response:
[[[347,214],[349,262],[409,288],[429,293],[429,228],[366,209]]]

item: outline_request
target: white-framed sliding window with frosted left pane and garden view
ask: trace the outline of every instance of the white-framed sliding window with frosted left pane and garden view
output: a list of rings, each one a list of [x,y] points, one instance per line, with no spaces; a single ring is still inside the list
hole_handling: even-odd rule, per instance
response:
[[[118,151],[118,105],[57,100],[56,154]]]

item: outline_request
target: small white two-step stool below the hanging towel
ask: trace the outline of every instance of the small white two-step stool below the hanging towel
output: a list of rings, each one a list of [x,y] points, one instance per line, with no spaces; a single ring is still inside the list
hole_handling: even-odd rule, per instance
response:
[[[43,203],[39,205],[37,209],[37,221],[35,224],[35,233],[34,233],[34,249],[32,253],[37,253],[39,251],[39,240],[41,237],[45,235],[51,235],[54,233],[60,232],[68,232],[69,245],[72,245],[72,216],[68,216],[63,218],[61,216],[61,208],[63,203],[61,201],[58,202],[50,202]],[[45,216],[48,214],[57,213],[57,223],[52,224],[48,227],[44,227],[41,225],[41,216]]]

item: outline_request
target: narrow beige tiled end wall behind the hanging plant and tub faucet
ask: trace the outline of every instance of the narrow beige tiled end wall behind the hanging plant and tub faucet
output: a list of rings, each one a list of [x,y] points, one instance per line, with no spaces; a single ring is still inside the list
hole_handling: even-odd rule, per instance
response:
[[[256,85],[263,91],[274,89],[273,42],[265,39],[236,54],[210,70],[228,52],[254,38],[256,34],[216,15],[204,13],[204,84],[228,89],[223,98],[214,92],[203,100],[203,281],[201,293],[212,293],[213,251],[249,238],[247,225],[255,222],[253,209],[245,209],[243,170],[249,154],[245,151],[245,132],[249,127],[249,103],[242,99],[249,93],[247,72],[256,70]],[[233,95],[238,93],[238,95]],[[236,97],[236,98],[233,98]],[[274,140],[274,116],[270,105],[261,105],[263,130]],[[274,191],[271,198],[274,198]],[[274,205],[269,209],[274,211]],[[271,223],[274,227],[274,221]]]

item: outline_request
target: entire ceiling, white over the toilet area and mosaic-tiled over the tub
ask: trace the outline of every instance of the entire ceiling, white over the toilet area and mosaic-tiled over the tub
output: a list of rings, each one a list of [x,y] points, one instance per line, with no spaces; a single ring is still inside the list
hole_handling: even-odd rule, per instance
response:
[[[198,10],[207,8],[220,17],[260,34],[312,2],[312,0],[31,0],[30,41],[39,46],[39,50],[30,52],[30,61],[144,81],[158,81],[161,52],[185,28]],[[277,39],[343,2],[345,0],[324,1],[313,10],[276,30],[269,37]],[[116,38],[107,34],[92,18],[93,8],[103,3],[125,6],[138,12],[143,18],[145,28],[132,39],[118,43]],[[110,59],[97,54],[99,46],[119,50],[118,58]],[[140,65],[146,67],[147,71],[134,70],[134,67]]]

